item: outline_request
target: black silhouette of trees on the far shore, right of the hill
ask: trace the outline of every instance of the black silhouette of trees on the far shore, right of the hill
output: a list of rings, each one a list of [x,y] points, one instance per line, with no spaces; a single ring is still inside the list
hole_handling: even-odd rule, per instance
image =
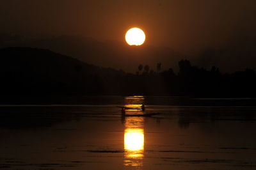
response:
[[[132,82],[136,93],[141,95],[172,95],[190,97],[255,97],[256,74],[246,68],[234,73],[221,73],[220,69],[212,66],[210,70],[192,66],[190,61],[179,61],[179,72],[172,68],[161,71],[161,63],[157,63],[156,72],[148,65],[138,66],[136,76],[127,74],[125,82],[130,89]],[[148,70],[150,70],[148,72]],[[129,84],[129,85],[128,85]]]

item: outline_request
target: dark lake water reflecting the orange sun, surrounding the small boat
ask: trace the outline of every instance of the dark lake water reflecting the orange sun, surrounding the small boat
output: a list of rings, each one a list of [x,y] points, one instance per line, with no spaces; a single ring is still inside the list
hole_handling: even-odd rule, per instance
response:
[[[0,169],[256,169],[256,102],[250,98],[35,103],[0,105]],[[116,107],[141,103],[145,112],[161,114],[127,117]]]

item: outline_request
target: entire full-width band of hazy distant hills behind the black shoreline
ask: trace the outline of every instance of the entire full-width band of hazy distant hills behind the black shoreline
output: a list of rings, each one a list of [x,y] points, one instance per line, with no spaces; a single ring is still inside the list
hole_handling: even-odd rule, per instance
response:
[[[246,43],[244,43],[246,42]],[[26,38],[24,36],[0,36],[0,47],[35,47],[49,49],[60,54],[72,56],[86,63],[122,69],[135,73],[138,65],[149,65],[156,70],[162,63],[164,69],[178,70],[181,59],[189,59],[198,66],[210,69],[218,66],[221,72],[235,72],[252,68],[256,70],[256,44],[253,38],[234,40],[225,47],[207,49],[198,56],[188,56],[168,47],[141,45],[129,46],[125,42],[100,42],[83,36],[52,36],[48,38]]]

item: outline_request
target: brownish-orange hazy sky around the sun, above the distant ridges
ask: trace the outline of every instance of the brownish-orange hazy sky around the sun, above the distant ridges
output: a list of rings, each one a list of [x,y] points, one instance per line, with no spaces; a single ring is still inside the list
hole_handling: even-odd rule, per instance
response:
[[[255,0],[1,0],[0,33],[124,41],[141,27],[150,45],[195,54],[255,36]]]

